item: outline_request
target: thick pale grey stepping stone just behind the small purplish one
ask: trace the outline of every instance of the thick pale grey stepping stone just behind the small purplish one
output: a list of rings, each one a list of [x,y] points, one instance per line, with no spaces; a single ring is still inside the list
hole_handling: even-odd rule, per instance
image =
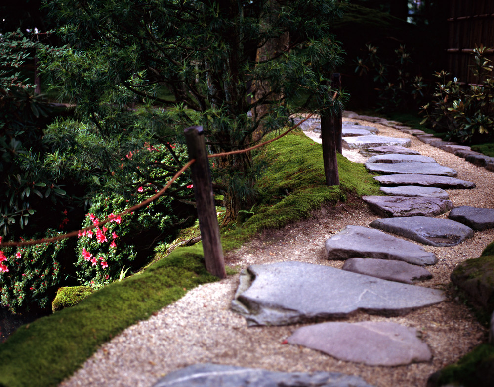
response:
[[[420,266],[437,263],[436,256],[422,247],[369,227],[346,226],[328,238],[325,247],[328,259],[393,259]]]

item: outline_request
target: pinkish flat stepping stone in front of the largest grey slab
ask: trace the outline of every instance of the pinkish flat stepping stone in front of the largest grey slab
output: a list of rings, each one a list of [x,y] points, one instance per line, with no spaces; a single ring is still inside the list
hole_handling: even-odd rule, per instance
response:
[[[432,358],[415,328],[389,321],[310,325],[297,329],[287,341],[371,366],[407,365]]]

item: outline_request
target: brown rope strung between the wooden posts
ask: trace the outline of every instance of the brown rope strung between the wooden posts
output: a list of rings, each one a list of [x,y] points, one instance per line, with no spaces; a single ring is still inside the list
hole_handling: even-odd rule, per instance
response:
[[[311,118],[312,116],[314,115],[314,113],[310,113],[307,117],[305,117],[303,120],[301,120],[298,124],[292,126],[290,129],[288,129],[287,131],[285,131],[284,133],[280,134],[279,136],[271,139],[271,140],[268,140],[268,141],[265,141],[261,144],[257,144],[257,145],[254,145],[250,148],[247,148],[247,149],[240,149],[240,150],[236,150],[236,151],[231,151],[231,152],[224,152],[224,153],[216,153],[214,155],[208,155],[207,157],[208,158],[214,158],[214,157],[223,157],[223,156],[228,156],[228,155],[234,155],[234,154],[239,154],[239,153],[246,153],[246,152],[250,152],[251,150],[254,150],[254,149],[257,149],[261,146],[264,146],[264,145],[267,145],[273,141],[276,141],[276,140],[279,140],[280,138],[282,138],[283,136],[286,136],[289,132],[291,132],[293,129],[295,129],[296,127],[298,127],[300,124],[302,124],[304,121],[308,120],[309,118]],[[115,217],[118,217],[118,216],[122,216],[122,215],[127,215],[128,213],[132,212],[132,211],[135,211],[135,210],[138,210],[146,205],[148,205],[149,203],[151,203],[153,200],[156,200],[158,199],[161,195],[163,195],[165,193],[165,191],[170,187],[170,185],[183,173],[185,172],[194,162],[196,161],[196,159],[192,159],[190,160],[188,163],[186,163],[181,169],[180,171],[178,171],[177,173],[175,173],[175,175],[171,178],[170,181],[168,181],[166,183],[166,185],[159,191],[157,192],[155,195],[147,198],[146,200],[142,201],[141,203],[139,204],[136,204],[135,206],[132,206],[132,207],[129,207],[127,208],[126,210],[122,211],[121,213],[117,214],[117,215],[114,215],[113,217],[108,217],[106,218],[105,220],[103,221],[99,221],[98,223],[96,224],[93,224],[92,226],[89,226],[89,227],[86,227],[86,228],[83,228],[82,230],[76,230],[76,231],[72,231],[72,232],[69,232],[69,233],[66,233],[66,234],[62,234],[62,235],[58,235],[56,237],[52,237],[52,238],[43,238],[43,239],[38,239],[38,240],[33,240],[33,241],[23,241],[23,242],[1,242],[1,238],[0,238],[0,247],[2,246],[33,246],[33,245],[38,245],[38,244],[41,244],[41,243],[51,243],[51,242],[56,242],[56,241],[60,241],[62,239],[67,239],[67,238],[72,238],[72,237],[75,237],[75,236],[78,236],[80,233],[84,232],[84,231],[88,231],[88,230],[92,230],[96,227],[99,227],[99,226],[102,226],[110,221],[112,221]]]

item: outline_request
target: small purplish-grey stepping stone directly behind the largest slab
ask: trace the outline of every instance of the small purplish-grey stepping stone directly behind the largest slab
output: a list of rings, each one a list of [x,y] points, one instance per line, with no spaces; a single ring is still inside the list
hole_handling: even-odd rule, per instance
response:
[[[404,284],[432,278],[430,271],[421,266],[390,259],[350,258],[345,261],[342,270]]]

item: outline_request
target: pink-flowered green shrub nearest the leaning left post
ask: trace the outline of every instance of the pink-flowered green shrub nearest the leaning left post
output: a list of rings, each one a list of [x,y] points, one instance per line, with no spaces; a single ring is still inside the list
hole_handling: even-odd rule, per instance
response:
[[[136,200],[140,201],[148,196],[149,192],[143,187],[136,189]],[[97,225],[100,219],[107,217],[111,221],[95,229],[80,232],[76,262],[80,284],[99,288],[116,281],[125,268],[136,266],[136,246],[146,244],[150,237],[157,240],[173,239],[173,223],[177,218],[170,211],[171,201],[172,198],[162,196],[145,209],[117,216],[114,214],[124,211],[133,203],[122,196],[109,198],[99,195],[94,198],[82,228]],[[149,241],[152,242],[153,240]]]

